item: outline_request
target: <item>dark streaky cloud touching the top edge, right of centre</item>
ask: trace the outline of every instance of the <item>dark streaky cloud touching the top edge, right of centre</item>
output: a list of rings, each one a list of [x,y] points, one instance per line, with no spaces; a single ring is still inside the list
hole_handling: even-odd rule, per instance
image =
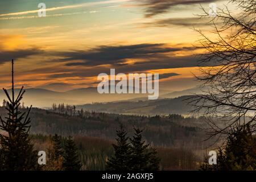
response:
[[[145,7],[145,16],[152,16],[167,13],[177,5],[193,5],[199,3],[210,3],[216,0],[141,0],[141,6]]]

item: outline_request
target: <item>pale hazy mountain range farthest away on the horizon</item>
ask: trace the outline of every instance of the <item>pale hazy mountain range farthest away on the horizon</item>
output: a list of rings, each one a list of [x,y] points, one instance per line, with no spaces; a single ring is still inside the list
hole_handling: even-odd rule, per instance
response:
[[[20,89],[15,89],[15,94],[19,93]],[[9,89],[10,93],[11,90]],[[170,91],[159,90],[160,94],[165,94]],[[51,107],[53,103],[81,105],[89,104],[93,102],[112,102],[121,100],[130,100],[134,98],[144,97],[147,98],[148,94],[100,94],[97,92],[97,88],[81,88],[69,90],[67,92],[56,92],[47,89],[28,88],[23,97],[25,105],[33,105],[34,107]],[[0,101],[7,99],[5,92],[0,91]]]

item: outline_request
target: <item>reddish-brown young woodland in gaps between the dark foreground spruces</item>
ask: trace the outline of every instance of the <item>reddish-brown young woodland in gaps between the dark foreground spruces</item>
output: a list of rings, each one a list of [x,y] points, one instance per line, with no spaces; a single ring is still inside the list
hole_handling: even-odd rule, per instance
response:
[[[36,150],[47,150],[52,146],[52,137],[49,135],[31,135],[35,142]],[[65,137],[60,137],[61,146],[64,146]],[[77,154],[82,164],[81,170],[106,170],[106,163],[115,156],[114,145],[117,141],[102,138],[84,137],[76,135],[73,137],[76,144]],[[152,146],[149,146],[152,147]],[[160,159],[159,170],[197,170],[202,159],[189,148],[155,147],[156,157]],[[48,153],[47,153],[48,154]]]

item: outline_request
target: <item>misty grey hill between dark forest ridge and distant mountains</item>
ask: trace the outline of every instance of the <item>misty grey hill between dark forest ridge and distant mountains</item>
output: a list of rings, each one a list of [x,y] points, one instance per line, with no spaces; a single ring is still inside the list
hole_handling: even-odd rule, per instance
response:
[[[94,103],[77,106],[77,109],[84,109],[97,112],[118,113],[118,114],[189,114],[193,109],[186,99],[191,96],[177,98],[164,98],[158,100],[130,100],[120,102]]]

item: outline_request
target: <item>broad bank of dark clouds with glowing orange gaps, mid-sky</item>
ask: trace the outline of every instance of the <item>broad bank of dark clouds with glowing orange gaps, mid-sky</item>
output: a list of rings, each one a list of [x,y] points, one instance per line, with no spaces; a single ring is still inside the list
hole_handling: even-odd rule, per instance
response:
[[[99,46],[86,51],[51,52],[48,63],[63,62],[64,67],[43,68],[31,72],[51,73],[47,79],[88,78],[100,73],[109,75],[110,68],[118,73],[146,73],[155,69],[198,66],[199,57],[193,56],[195,47],[168,44],[135,44],[127,46]],[[162,75],[167,78],[175,73]]]

